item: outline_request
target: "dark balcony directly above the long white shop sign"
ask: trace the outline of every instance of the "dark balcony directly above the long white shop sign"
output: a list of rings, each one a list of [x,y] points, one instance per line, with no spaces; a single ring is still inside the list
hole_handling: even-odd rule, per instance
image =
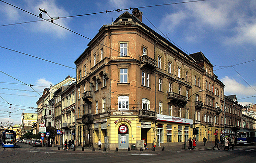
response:
[[[187,103],[187,97],[178,93],[169,92],[167,99],[170,99],[170,102],[174,106],[184,107]]]

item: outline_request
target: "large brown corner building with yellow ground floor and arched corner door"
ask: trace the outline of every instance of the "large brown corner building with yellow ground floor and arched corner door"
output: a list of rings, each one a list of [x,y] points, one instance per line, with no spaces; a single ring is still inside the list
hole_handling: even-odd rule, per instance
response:
[[[186,54],[125,12],[75,60],[78,145],[128,148],[221,136],[224,84],[202,52]],[[193,128],[198,132],[193,133]]]

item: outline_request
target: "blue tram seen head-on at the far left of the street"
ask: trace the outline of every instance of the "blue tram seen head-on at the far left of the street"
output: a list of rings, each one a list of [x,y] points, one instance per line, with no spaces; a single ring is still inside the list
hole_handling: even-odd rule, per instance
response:
[[[2,147],[16,146],[16,132],[13,130],[5,130],[2,133]]]

